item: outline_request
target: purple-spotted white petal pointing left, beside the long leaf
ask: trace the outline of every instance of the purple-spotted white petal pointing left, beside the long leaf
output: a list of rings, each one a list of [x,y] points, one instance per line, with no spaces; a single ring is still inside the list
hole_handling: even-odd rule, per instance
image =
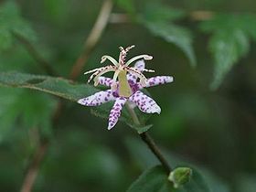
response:
[[[86,106],[97,106],[97,105],[101,105],[104,102],[113,101],[113,100],[115,100],[115,97],[112,95],[112,91],[107,90],[107,91],[99,91],[89,97],[82,98],[78,101],[78,103]]]

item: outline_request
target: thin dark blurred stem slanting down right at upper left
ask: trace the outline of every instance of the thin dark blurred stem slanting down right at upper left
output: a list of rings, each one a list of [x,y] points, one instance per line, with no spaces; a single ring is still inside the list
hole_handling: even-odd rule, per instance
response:
[[[37,61],[42,69],[44,69],[48,75],[57,76],[56,71],[54,71],[48,61],[46,61],[38,52],[37,49],[27,40],[26,37],[22,37],[17,33],[13,33],[16,39],[27,49],[30,56]]]

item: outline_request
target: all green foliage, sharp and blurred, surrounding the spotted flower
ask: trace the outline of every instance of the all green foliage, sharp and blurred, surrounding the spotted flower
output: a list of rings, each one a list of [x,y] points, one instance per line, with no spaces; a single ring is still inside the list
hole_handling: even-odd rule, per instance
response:
[[[88,77],[65,78],[102,2],[65,2],[6,0],[0,5],[1,191],[20,190],[42,141],[48,148],[41,162],[36,158],[33,191],[254,191],[256,16],[237,13],[247,1],[229,2],[232,7],[220,1],[114,1],[110,17],[121,19],[108,23],[100,40],[93,39],[97,45],[86,49],[84,69],[98,67],[101,55],[112,55],[117,46],[129,43],[152,53],[154,66],[149,69],[174,75],[176,81],[170,87],[144,90],[161,106],[160,116],[135,108],[138,125],[123,108],[123,123],[111,132],[99,119],[108,119],[113,102],[81,107],[76,101],[99,89],[80,82]],[[191,11],[214,6],[225,14]],[[48,50],[34,48],[37,37]],[[41,75],[48,70],[42,63],[37,66],[37,58],[45,63],[45,57],[47,68],[58,69],[59,77]],[[194,69],[183,65],[183,58]],[[213,72],[206,63],[213,63]],[[208,90],[211,73],[214,91]],[[221,83],[225,90],[217,90]],[[185,170],[186,176],[187,169],[180,167],[189,167],[191,179],[183,177],[184,172],[176,175],[185,178],[178,180],[184,185],[174,186],[155,154],[136,138],[142,135],[134,135],[149,131],[169,165]]]

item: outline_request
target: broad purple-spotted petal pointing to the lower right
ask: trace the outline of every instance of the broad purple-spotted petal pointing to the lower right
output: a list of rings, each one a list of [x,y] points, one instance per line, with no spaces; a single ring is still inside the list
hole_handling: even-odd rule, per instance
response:
[[[142,91],[136,91],[130,98],[129,101],[134,102],[142,112],[160,114],[161,108],[156,102],[145,95]]]

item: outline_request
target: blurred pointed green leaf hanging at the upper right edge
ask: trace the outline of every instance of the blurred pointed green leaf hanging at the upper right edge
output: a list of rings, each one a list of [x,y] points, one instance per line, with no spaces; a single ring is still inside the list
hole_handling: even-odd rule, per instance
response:
[[[249,51],[250,38],[256,40],[254,15],[218,15],[202,22],[200,28],[213,33],[209,39],[209,51],[214,59],[212,90],[219,88],[230,69]]]

